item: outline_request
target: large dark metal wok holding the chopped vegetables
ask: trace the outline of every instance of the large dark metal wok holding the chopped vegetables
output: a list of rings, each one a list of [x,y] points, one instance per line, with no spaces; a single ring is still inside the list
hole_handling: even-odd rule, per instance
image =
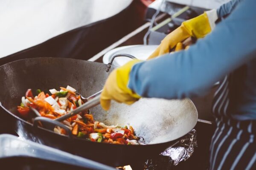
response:
[[[48,91],[70,85],[83,96],[102,89],[113,70],[106,65],[67,58],[21,59],[0,66],[1,121],[24,139],[93,159],[111,166],[136,164],[159,154],[176,139],[195,126],[198,114],[190,99],[140,99],[133,105],[112,102],[110,111],[100,106],[91,109],[95,120],[107,125],[132,125],[135,133],[147,145],[116,145],[89,142],[84,139],[58,135],[42,127],[33,126],[17,114],[21,96],[28,88]]]

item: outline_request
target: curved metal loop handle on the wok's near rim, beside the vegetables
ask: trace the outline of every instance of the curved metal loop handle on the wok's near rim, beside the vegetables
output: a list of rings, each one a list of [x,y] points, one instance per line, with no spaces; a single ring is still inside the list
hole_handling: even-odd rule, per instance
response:
[[[33,127],[38,127],[38,122],[39,122],[39,121],[40,121],[40,122],[45,122],[45,123],[47,123],[48,125],[51,125],[52,127],[59,126],[59,127],[63,128],[63,129],[67,132],[67,136],[68,136],[69,138],[72,138],[72,137],[73,137],[72,132],[71,132],[71,130],[70,130],[68,127],[66,127],[65,125],[63,125],[61,122],[58,122],[58,121],[56,121],[56,120],[49,119],[49,118],[47,118],[47,117],[36,117],[36,118],[34,119]]]

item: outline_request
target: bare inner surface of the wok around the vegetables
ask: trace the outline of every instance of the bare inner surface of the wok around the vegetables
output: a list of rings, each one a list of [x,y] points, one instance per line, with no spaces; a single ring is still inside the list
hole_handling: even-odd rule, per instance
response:
[[[22,59],[0,67],[0,102],[16,112],[21,96],[32,90],[76,88],[83,96],[101,90],[109,72],[106,65],[67,58]],[[113,69],[113,68],[112,68]],[[175,140],[188,133],[197,122],[197,111],[190,99],[140,99],[133,105],[112,102],[110,111],[91,109],[94,119],[106,125],[132,125],[147,144]]]

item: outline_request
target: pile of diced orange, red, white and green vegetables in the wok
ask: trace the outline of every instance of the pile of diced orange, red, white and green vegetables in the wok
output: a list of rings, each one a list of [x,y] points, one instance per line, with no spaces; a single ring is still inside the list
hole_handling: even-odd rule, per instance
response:
[[[76,95],[76,89],[67,86],[67,88],[50,89],[50,94],[45,94],[40,89],[36,90],[37,96],[34,96],[31,89],[26,91],[26,95],[21,98],[20,106],[17,111],[24,119],[32,121],[35,116],[30,107],[35,108],[43,117],[56,119],[83,104],[80,95]],[[132,126],[118,127],[117,125],[105,125],[102,122],[95,121],[93,115],[84,111],[62,122],[67,126],[74,136],[90,140],[92,142],[103,142],[112,144],[132,144],[138,145],[139,137],[135,136]],[[55,133],[66,134],[66,131],[56,126]],[[140,143],[141,144],[141,143]]]

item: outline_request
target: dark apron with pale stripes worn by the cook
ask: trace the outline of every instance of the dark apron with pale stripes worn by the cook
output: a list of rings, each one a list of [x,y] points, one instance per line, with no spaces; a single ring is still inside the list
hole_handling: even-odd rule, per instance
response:
[[[212,105],[217,129],[210,146],[210,170],[256,170],[256,121],[238,121],[228,113],[231,76],[224,77]]]

